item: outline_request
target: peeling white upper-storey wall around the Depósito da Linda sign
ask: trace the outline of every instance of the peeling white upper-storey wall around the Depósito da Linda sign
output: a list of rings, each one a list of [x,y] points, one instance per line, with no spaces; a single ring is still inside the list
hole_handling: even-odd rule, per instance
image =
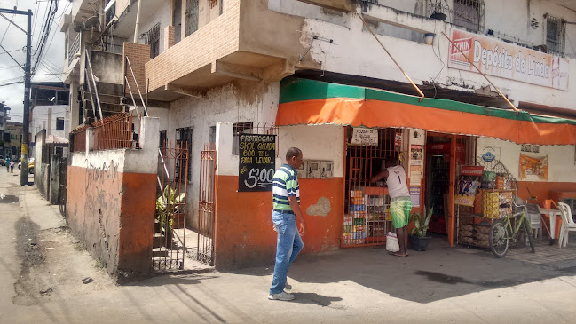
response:
[[[270,4],[272,2],[271,0]],[[410,5],[406,4],[408,8],[414,7],[414,1],[409,3]],[[531,45],[546,43],[543,29],[543,26],[546,25],[546,21],[543,19],[544,13],[564,18],[564,20],[576,20],[576,12],[565,10],[565,8],[548,1],[531,1],[530,14],[527,13],[527,3],[522,0],[509,1],[506,4],[498,1],[486,1],[485,3],[486,29],[491,28],[496,32],[500,31],[500,34],[496,33],[496,36],[518,43]],[[502,6],[507,10],[502,10]],[[398,4],[394,7],[398,7],[400,10],[406,9],[405,5]],[[273,9],[272,5],[271,9]],[[320,7],[312,4],[285,0],[282,0],[280,5],[280,12],[294,15],[295,18],[304,17],[304,26],[298,29],[302,30],[303,33],[298,33],[297,36],[304,48],[312,43],[312,49],[306,56],[311,58],[312,62],[320,64],[321,68],[327,71],[407,82],[405,75],[394,65],[374,37],[365,30],[356,13],[344,13],[343,23],[340,23],[324,19],[326,14],[321,13],[320,10]],[[408,12],[414,11],[415,9]],[[515,14],[510,15],[509,12],[515,12]],[[385,20],[400,21],[405,19],[401,12],[390,10],[383,5],[369,5],[366,13]],[[529,20],[533,17],[540,20],[539,28],[529,28]],[[412,28],[421,28],[436,33],[433,46],[396,38],[394,36],[398,36],[398,33],[391,28],[383,28],[381,32],[387,36],[381,35],[378,38],[416,84],[436,82],[449,89],[471,92],[490,85],[482,75],[446,67],[449,42],[441,33],[450,35],[452,28],[455,28],[453,25],[439,20],[421,19],[413,16],[406,19],[410,20]],[[567,25],[566,53],[571,54],[572,57],[576,53],[570,47],[568,40],[574,33],[576,33],[576,26]],[[312,35],[317,35],[320,39],[312,41]],[[294,37],[289,34],[287,36]],[[321,39],[332,39],[334,42],[329,43]],[[243,41],[244,39],[242,39],[241,46]],[[271,42],[273,43],[273,41]],[[281,45],[278,46],[284,49]],[[297,48],[297,46],[292,46],[292,48]],[[292,54],[292,51],[287,50],[285,55],[288,55],[288,58],[294,56],[297,58],[298,54]],[[570,75],[574,76],[576,75],[576,60],[570,59],[570,61]],[[303,64],[313,63],[304,59]],[[576,91],[576,83],[569,82],[570,91],[560,91],[495,76],[489,76],[489,78],[516,104],[522,100],[548,106],[573,108],[571,92]]]

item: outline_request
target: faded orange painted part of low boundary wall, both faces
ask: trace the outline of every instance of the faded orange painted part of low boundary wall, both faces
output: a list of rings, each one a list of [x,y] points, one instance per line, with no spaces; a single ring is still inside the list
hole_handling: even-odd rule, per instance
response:
[[[155,177],[68,166],[68,226],[108,273],[150,270]]]

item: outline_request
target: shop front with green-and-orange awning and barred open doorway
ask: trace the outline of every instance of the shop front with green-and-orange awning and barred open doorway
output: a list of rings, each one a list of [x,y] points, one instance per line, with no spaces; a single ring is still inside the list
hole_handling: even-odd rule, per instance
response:
[[[393,232],[386,188],[369,183],[386,159],[405,168],[413,212],[433,209],[430,231],[445,233],[452,245],[460,212],[456,184],[463,166],[477,163],[478,138],[576,143],[572,120],[296,78],[282,82],[276,124],[343,126],[342,247],[383,244]]]

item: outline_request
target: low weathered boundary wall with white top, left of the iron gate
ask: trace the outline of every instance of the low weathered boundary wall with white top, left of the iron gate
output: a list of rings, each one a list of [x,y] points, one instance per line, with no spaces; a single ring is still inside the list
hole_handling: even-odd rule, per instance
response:
[[[142,149],[76,152],[67,170],[68,225],[114,276],[152,262],[160,122],[143,121]]]

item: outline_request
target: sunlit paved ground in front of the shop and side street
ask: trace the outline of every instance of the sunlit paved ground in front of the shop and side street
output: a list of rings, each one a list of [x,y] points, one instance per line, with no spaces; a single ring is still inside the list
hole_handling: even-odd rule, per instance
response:
[[[234,272],[159,275],[116,286],[61,227],[58,207],[48,205],[36,186],[17,186],[0,169],[0,194],[19,197],[0,203],[3,322],[576,321],[573,237],[568,249],[539,246],[536,255],[514,249],[501,259],[481,249],[447,247],[441,238],[404,258],[382,247],[304,255],[288,273],[296,300],[279,302],[266,299],[272,260]],[[92,281],[84,284],[85,278]]]

